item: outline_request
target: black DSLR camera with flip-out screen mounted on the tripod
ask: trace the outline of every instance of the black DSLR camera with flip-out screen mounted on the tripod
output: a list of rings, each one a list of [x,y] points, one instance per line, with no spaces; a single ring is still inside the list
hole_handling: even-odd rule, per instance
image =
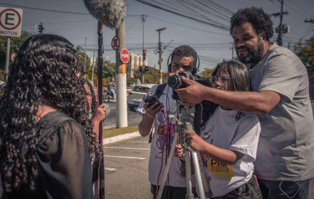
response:
[[[168,78],[168,85],[172,88],[172,99],[180,100],[178,93],[174,89],[186,88],[189,86],[187,83],[181,80],[181,77],[189,78],[190,80],[197,81],[204,86],[213,87],[209,78],[199,77],[198,75],[192,75],[190,71],[180,71],[178,75],[172,75]]]

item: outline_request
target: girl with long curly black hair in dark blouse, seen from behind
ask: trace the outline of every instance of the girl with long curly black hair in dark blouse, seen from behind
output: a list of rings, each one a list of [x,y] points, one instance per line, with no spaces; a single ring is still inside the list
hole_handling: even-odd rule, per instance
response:
[[[21,46],[0,99],[0,173],[8,198],[91,198],[95,133],[75,50],[37,34]]]

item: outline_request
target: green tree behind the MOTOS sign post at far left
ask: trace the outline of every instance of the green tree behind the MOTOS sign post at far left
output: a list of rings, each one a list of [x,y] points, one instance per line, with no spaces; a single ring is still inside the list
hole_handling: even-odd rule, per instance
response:
[[[10,37],[10,54],[19,52],[20,46],[28,39],[32,34],[26,31],[22,31],[20,37]],[[7,37],[0,36],[0,70],[5,70],[5,57],[7,52]],[[10,61],[10,64],[12,62]]]

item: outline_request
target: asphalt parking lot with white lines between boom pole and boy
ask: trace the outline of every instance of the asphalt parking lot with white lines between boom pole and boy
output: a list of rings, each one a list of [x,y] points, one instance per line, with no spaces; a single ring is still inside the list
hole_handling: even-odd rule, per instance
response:
[[[113,148],[111,148],[113,147]],[[104,146],[105,198],[152,198],[148,137]]]

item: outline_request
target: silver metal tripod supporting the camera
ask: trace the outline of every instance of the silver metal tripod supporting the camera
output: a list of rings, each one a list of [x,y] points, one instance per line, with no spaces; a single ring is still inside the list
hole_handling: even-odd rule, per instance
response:
[[[194,120],[195,107],[194,106],[184,107],[181,104],[181,101],[179,101],[179,102],[176,102],[176,110],[178,114],[181,114],[181,121],[178,120],[174,115],[168,115],[168,117],[175,118],[178,124],[176,126],[176,133],[174,135],[174,138],[171,144],[170,154],[167,160],[167,165],[165,167],[164,175],[162,176],[161,185],[158,191],[157,199],[161,199],[161,195],[165,186],[165,181],[169,172],[172,156],[174,154],[175,146],[176,146],[179,135],[181,138],[180,139],[181,146],[183,147],[185,151],[185,170],[186,170],[186,181],[187,181],[187,193],[186,193],[185,198],[194,199],[194,194],[192,192],[191,157],[193,160],[193,165],[194,165],[194,170],[195,170],[199,198],[205,199],[205,195],[206,197],[210,198],[212,194],[205,178],[204,166],[201,161],[201,154],[198,151],[194,151],[193,149],[188,147],[184,139],[186,130],[194,130],[193,120]]]

